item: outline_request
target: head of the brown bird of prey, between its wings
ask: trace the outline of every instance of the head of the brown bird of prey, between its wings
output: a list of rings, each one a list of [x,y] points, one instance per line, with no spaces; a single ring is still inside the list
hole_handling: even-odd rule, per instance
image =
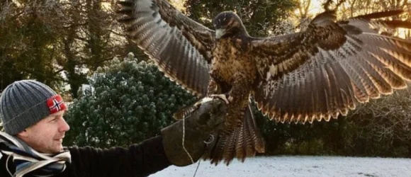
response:
[[[232,35],[248,35],[240,17],[232,11],[219,13],[215,16],[213,25],[217,39]]]

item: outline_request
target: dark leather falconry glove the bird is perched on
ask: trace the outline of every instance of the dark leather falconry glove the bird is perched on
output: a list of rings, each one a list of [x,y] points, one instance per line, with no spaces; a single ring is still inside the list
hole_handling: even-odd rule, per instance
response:
[[[186,118],[174,122],[162,129],[164,152],[175,166],[187,166],[198,161],[205,152],[205,142],[210,135],[223,127],[227,107],[224,101],[213,98],[203,98],[193,105]],[[185,124],[183,147],[183,123]]]

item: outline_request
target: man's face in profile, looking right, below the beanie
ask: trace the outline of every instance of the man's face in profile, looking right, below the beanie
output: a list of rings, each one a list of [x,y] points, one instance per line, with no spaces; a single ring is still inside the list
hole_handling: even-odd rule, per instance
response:
[[[63,138],[70,127],[63,118],[64,110],[43,118],[26,131],[19,133],[30,147],[38,152],[55,154],[62,152]]]

